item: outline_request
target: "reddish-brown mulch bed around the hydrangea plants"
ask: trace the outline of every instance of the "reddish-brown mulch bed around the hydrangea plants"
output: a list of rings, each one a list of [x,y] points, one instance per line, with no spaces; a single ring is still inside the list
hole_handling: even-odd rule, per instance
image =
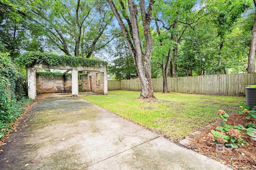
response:
[[[207,135],[211,133],[210,131],[212,129],[218,131],[216,127],[220,126],[219,122],[220,121],[210,125],[210,127],[204,128],[202,133],[194,137],[190,145],[188,145],[188,148],[217,160],[222,164],[226,164],[234,170],[256,170],[256,141],[253,141],[246,133],[243,134],[243,139],[244,141],[247,141],[249,145],[244,144],[244,147],[236,149],[224,148],[225,150],[222,152],[216,150],[216,144],[207,140]],[[248,122],[256,123],[256,119],[246,119],[244,115],[235,113],[230,115],[228,121],[225,123],[232,126],[240,124],[245,127],[245,124]]]

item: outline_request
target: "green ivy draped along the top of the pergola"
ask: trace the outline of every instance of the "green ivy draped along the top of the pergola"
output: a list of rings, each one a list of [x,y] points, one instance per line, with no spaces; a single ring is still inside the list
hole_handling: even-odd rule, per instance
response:
[[[22,65],[25,65],[26,68],[33,67],[35,64],[44,64],[48,66],[94,66],[98,65],[106,65],[107,63],[100,60],[95,59],[86,59],[82,57],[71,57],[67,55],[56,55],[51,53],[41,53],[39,51],[32,51],[28,53],[24,53],[20,55],[20,57],[16,58],[16,62]]]

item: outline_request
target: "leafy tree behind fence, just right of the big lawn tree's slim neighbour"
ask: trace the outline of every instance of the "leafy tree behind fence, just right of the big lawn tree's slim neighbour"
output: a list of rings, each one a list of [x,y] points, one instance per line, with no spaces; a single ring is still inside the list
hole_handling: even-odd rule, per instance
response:
[[[162,27],[169,31],[171,40],[175,42],[174,48],[171,48],[172,58],[170,59],[172,77],[176,77],[178,44],[184,32],[188,28],[194,29],[199,19],[202,18],[200,11],[193,12],[196,2],[196,0],[161,0],[156,4],[155,20],[162,23]]]

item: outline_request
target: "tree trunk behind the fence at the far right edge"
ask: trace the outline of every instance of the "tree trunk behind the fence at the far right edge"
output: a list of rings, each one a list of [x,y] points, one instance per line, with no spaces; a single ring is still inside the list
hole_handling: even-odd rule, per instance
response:
[[[254,0],[254,3],[255,3],[255,0]],[[251,37],[250,51],[248,56],[248,68],[247,68],[248,73],[255,72],[255,50],[256,50],[256,9],[254,11],[254,23],[252,27],[252,37]]]

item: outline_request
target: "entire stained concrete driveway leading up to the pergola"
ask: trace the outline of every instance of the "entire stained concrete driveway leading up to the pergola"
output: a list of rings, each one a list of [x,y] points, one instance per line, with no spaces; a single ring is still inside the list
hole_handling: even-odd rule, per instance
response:
[[[38,102],[16,130],[0,147],[0,169],[228,169],[70,96]]]

